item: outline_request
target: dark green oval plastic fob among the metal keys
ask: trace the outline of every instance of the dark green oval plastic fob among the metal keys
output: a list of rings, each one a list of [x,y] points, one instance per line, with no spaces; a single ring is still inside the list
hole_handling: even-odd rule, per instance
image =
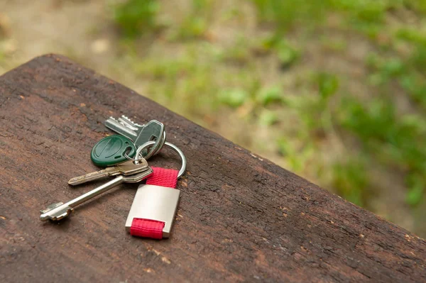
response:
[[[133,142],[124,135],[109,135],[94,145],[90,158],[94,165],[107,167],[128,160],[125,154],[131,158],[135,156]]]

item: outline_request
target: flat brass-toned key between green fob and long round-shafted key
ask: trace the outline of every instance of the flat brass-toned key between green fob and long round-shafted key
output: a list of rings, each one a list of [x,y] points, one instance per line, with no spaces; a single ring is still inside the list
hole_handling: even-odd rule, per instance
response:
[[[68,181],[68,184],[75,186],[77,184],[83,184],[85,182],[90,182],[103,177],[116,176],[119,174],[129,176],[131,174],[145,172],[146,170],[150,169],[150,167],[148,166],[148,162],[146,162],[145,159],[141,159],[138,161],[138,164],[136,164],[135,162],[133,162],[133,160],[129,160],[115,166],[107,167],[104,170],[84,174],[79,177],[74,177],[70,179],[70,181]]]

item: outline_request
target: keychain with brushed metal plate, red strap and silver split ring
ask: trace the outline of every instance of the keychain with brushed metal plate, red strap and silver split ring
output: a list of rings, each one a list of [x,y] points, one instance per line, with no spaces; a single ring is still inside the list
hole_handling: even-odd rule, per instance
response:
[[[150,141],[141,145],[136,157],[154,143]],[[126,220],[126,230],[133,236],[161,239],[171,235],[180,198],[180,190],[175,187],[185,172],[186,158],[176,145],[167,142],[165,145],[178,152],[182,167],[179,171],[153,167],[153,174],[146,179],[146,184],[138,187]]]

